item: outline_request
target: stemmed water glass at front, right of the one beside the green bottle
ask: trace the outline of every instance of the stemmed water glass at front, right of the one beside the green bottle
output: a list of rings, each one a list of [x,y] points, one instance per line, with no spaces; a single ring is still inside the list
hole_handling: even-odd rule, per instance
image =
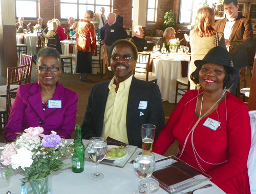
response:
[[[156,180],[148,178],[152,175],[155,169],[155,155],[153,153],[143,150],[137,152],[135,155],[133,168],[135,174],[141,178],[138,184],[142,188],[135,190],[134,194],[148,194],[150,193],[150,190],[154,190],[159,186],[159,183]],[[158,186],[156,182],[158,183]]]

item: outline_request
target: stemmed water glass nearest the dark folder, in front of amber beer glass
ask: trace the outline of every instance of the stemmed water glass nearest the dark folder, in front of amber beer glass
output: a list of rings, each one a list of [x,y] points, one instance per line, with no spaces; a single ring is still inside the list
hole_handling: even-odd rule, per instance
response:
[[[139,151],[135,155],[133,168],[135,171],[135,174],[141,178],[148,178],[152,175],[154,169],[155,169],[155,155],[149,151]],[[148,179],[147,184],[154,184],[155,181],[152,181],[153,179]],[[140,185],[140,184],[139,184]],[[134,191],[134,194],[141,194],[141,193],[147,193],[147,191],[142,189],[137,189]],[[148,191],[149,192],[149,191]]]

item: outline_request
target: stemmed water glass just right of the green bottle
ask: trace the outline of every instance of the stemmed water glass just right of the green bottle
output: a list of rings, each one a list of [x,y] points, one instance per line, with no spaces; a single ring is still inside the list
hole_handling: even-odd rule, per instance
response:
[[[104,178],[104,175],[98,172],[98,165],[99,165],[99,162],[105,158],[107,150],[108,150],[108,144],[106,143],[106,140],[104,138],[92,137],[89,140],[88,154],[90,158],[94,162],[96,162],[96,173],[91,173],[89,175],[89,177],[92,180],[99,181]]]

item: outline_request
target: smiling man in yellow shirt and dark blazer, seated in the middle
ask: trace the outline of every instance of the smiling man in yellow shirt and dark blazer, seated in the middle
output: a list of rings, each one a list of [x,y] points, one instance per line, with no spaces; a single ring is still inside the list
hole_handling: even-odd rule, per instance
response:
[[[89,95],[82,123],[82,138],[111,137],[142,147],[141,125],[156,125],[156,137],[164,126],[164,111],[158,85],[133,76],[138,51],[125,39],[111,46],[111,81],[97,83]]]

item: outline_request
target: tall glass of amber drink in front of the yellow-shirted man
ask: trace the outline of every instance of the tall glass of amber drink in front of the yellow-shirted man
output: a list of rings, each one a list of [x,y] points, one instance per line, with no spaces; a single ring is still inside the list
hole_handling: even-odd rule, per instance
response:
[[[156,126],[154,124],[143,124],[141,126],[142,150],[152,152],[155,139]]]

